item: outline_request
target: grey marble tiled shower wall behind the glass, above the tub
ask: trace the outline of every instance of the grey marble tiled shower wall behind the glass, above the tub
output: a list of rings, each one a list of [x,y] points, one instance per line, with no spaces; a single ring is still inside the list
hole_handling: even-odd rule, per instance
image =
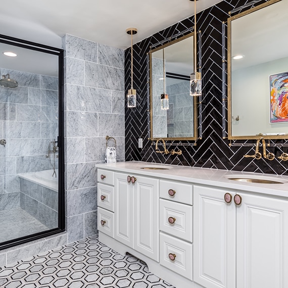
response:
[[[45,158],[57,139],[58,78],[0,68],[18,87],[0,87],[0,210],[20,206],[19,173],[51,169]]]

